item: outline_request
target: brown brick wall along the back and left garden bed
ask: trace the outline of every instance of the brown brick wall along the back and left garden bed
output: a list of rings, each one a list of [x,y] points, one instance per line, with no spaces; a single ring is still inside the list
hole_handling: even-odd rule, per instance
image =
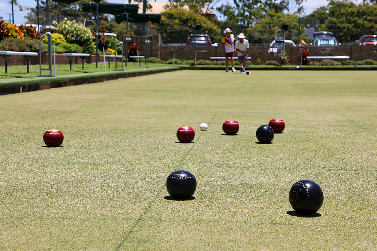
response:
[[[147,36],[147,56],[158,57],[158,52],[160,52],[161,60],[168,60],[173,58],[173,53],[175,53],[175,58],[186,58],[194,59],[194,46],[160,46],[160,35],[153,34]],[[137,42],[141,47],[141,55],[145,56],[145,36],[133,37],[132,42]],[[126,46],[126,41],[123,41],[124,46]],[[251,57],[251,63],[257,64],[257,59],[260,58],[262,62],[269,60],[276,60],[277,55],[274,57],[274,53],[268,53],[268,46],[250,46],[249,56]],[[353,46],[333,46],[333,47],[317,47],[317,46],[305,46],[309,49],[312,56],[349,56],[350,59],[354,61],[359,61],[363,59],[373,59],[377,61],[377,46],[359,46],[354,44]],[[127,49],[124,48],[124,53]],[[285,51],[288,53],[290,63],[294,65],[300,64],[300,57],[297,56],[299,47],[286,47]],[[196,59],[208,59],[211,57],[224,56],[221,44],[218,47],[214,46],[196,46]],[[237,53],[235,53],[237,54]],[[316,60],[317,61],[317,60]],[[81,64],[81,59],[76,57],[72,60],[72,64]],[[95,55],[91,55],[85,62],[95,62]],[[98,56],[98,62],[103,62],[103,56]],[[30,64],[39,64],[39,56],[34,56]],[[69,59],[62,54],[56,55],[57,64],[69,64]],[[42,55],[42,64],[48,64],[47,55]],[[5,60],[0,58],[0,65],[5,65]],[[8,65],[26,65],[26,59],[23,56],[11,56],[8,59]]]

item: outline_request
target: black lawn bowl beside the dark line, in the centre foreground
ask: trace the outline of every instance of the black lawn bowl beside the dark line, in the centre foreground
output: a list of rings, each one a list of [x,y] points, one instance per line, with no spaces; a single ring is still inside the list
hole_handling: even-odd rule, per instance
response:
[[[175,198],[188,198],[195,193],[196,178],[188,171],[179,170],[172,172],[166,179],[166,190]]]

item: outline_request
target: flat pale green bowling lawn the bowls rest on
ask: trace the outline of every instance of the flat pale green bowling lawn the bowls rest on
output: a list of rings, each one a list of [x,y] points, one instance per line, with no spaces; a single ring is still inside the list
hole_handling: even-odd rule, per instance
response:
[[[2,250],[375,250],[374,71],[174,71],[0,96]],[[256,129],[285,121],[272,144]],[[234,119],[237,135],[223,135]],[[207,123],[208,131],[199,130]],[[189,125],[191,144],[177,143]],[[47,129],[61,147],[43,143]],[[171,200],[188,170],[195,198]],[[288,201],[312,180],[309,217]]]

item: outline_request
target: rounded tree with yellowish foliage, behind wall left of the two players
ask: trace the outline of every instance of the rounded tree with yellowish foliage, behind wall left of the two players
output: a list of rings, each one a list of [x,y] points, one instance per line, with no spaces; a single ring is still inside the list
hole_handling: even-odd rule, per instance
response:
[[[161,13],[161,19],[171,19],[173,22],[161,22],[160,24],[153,24],[153,28],[161,35],[163,41],[166,43],[180,43],[182,36],[182,18],[183,18],[183,42],[190,34],[195,33],[194,24],[201,24],[201,34],[208,34],[212,42],[220,42],[222,38],[219,27],[203,17],[195,11],[187,11],[185,9],[167,9]],[[197,32],[198,33],[198,32]]]

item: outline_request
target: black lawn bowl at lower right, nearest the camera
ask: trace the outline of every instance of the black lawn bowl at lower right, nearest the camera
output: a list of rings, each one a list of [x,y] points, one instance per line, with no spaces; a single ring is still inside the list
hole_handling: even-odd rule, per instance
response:
[[[289,202],[299,214],[312,214],[322,207],[323,192],[317,183],[300,180],[293,184],[289,191]]]

